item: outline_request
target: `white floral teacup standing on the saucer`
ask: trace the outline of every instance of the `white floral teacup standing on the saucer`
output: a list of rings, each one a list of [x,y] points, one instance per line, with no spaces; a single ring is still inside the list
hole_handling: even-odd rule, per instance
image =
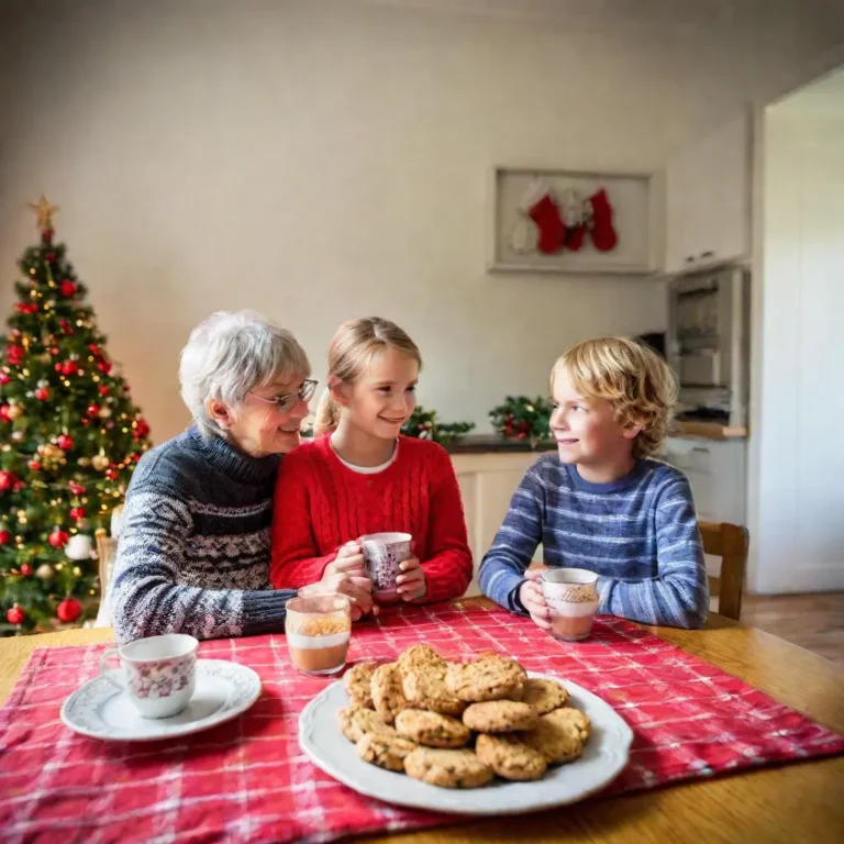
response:
[[[197,684],[199,642],[184,633],[138,638],[108,649],[100,673],[123,691],[143,718],[170,718],[190,701]],[[109,668],[120,658],[120,669]]]

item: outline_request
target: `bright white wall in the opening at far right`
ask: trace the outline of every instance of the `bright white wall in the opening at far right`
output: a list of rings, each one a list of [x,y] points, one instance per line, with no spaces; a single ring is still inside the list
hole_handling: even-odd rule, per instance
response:
[[[844,589],[844,73],[837,85],[763,122],[749,473],[749,586],[763,593]]]

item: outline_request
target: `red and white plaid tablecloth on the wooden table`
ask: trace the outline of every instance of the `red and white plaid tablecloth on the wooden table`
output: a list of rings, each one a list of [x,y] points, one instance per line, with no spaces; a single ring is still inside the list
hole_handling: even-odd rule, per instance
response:
[[[598,620],[588,642],[560,644],[502,611],[409,607],[356,625],[349,659],[392,658],[414,642],[455,657],[507,653],[612,704],[635,738],[606,793],[844,751],[842,736],[618,619]],[[104,647],[37,648],[0,711],[3,841],[318,842],[454,822],[360,797],[311,765],[298,717],[326,680],[291,667],[284,635],[201,645],[200,656],[248,665],[264,682],[229,724],[160,744],[76,735],[58,712],[97,675]]]

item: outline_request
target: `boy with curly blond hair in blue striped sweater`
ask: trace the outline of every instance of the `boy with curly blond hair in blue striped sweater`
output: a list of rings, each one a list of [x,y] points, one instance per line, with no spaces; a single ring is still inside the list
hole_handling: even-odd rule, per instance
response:
[[[646,624],[699,628],[709,588],[689,482],[652,459],[676,400],[671,371],[651,349],[620,337],[580,343],[551,374],[551,429],[558,454],[528,469],[480,565],[484,593],[543,630],[551,613],[547,566],[599,575],[599,613]]]

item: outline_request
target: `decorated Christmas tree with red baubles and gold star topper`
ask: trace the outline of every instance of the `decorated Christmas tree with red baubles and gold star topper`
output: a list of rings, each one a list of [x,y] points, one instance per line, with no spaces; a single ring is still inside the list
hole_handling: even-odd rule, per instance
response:
[[[122,503],[149,426],[109,358],[86,287],[54,244],[19,262],[10,333],[0,336],[0,629],[80,623],[99,603],[92,534]],[[5,622],[5,623],[3,623]]]

